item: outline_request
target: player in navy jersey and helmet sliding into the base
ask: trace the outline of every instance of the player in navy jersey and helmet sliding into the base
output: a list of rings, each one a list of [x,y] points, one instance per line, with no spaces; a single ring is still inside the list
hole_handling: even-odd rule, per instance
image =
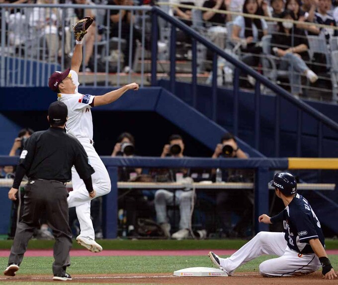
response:
[[[295,177],[288,172],[279,172],[269,185],[275,188],[275,194],[286,208],[272,218],[265,214],[259,216],[259,223],[283,221],[285,232],[261,231],[229,258],[220,258],[209,252],[211,261],[228,275],[233,275],[242,264],[263,254],[271,254],[279,257],[259,265],[259,273],[264,277],[309,274],[320,266],[325,279],[337,277],[325,252],[321,224],[309,202],[297,193]]]

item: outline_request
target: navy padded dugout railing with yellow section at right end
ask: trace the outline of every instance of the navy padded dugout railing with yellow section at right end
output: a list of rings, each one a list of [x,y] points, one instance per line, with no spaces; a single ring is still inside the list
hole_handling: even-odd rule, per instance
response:
[[[117,197],[118,197],[118,168],[119,167],[142,167],[142,168],[221,168],[221,169],[252,169],[254,170],[254,184],[245,185],[247,188],[254,189],[254,230],[259,232],[267,230],[268,225],[258,223],[258,216],[269,212],[269,188],[268,182],[273,176],[274,170],[287,169],[338,169],[337,159],[291,159],[291,158],[255,158],[255,159],[209,159],[209,158],[111,158],[101,157],[106,166],[111,180],[111,192],[104,196],[103,199],[103,230],[105,238],[117,237]],[[18,157],[0,156],[0,165],[16,165]],[[3,184],[3,185],[2,185]],[[3,180],[0,186],[10,187],[8,181]],[[122,184],[123,185],[123,184]],[[156,185],[155,185],[156,186]],[[242,185],[243,186],[243,185]],[[311,186],[311,187],[310,187]],[[128,184],[124,184],[124,188]],[[158,184],[161,187],[161,183]],[[185,187],[185,186],[184,186]],[[230,185],[230,189],[234,189],[234,185]],[[318,185],[304,184],[303,189],[311,190],[334,190],[335,184]],[[132,187],[131,187],[132,188]],[[154,187],[150,187],[153,188]],[[173,186],[179,188],[179,186]],[[210,189],[217,189],[217,184],[211,186]],[[221,187],[226,189],[227,187]],[[215,189],[215,190],[216,190]],[[198,191],[198,187],[196,187]],[[7,201],[9,203],[9,200]],[[330,202],[330,201],[329,201]],[[4,201],[3,201],[4,203]],[[333,202],[334,203],[334,202]]]

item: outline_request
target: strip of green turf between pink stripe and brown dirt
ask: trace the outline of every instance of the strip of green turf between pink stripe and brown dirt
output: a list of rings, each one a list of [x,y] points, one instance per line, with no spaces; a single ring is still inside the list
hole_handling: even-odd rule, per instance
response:
[[[216,252],[217,253],[217,252]],[[338,256],[329,256],[334,268],[338,267]],[[257,271],[258,265],[271,258],[261,256],[240,267],[238,272]],[[95,256],[72,257],[70,274],[137,274],[137,273],[173,273],[175,270],[188,267],[212,267],[205,256]],[[20,265],[18,274],[52,274],[52,257],[26,257]],[[0,258],[0,266],[4,269],[7,258]]]

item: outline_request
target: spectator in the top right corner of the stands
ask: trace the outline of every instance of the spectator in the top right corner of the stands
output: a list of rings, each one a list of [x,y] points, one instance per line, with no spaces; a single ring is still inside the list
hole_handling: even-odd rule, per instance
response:
[[[315,23],[328,25],[328,26],[337,26],[336,20],[328,11],[331,10],[332,2],[331,0],[318,0],[318,8],[315,13]],[[338,30],[330,28],[321,28],[321,34],[323,34],[329,44],[330,37],[338,36]]]

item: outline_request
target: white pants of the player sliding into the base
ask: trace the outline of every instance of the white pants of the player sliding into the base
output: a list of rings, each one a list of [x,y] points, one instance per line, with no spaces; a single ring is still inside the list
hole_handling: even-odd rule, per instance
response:
[[[265,277],[307,274],[317,271],[321,266],[314,253],[298,256],[296,251],[291,250],[287,246],[283,232],[267,231],[256,234],[229,258],[221,258],[220,265],[231,274],[241,265],[265,254],[279,256],[259,265],[259,273]]]

